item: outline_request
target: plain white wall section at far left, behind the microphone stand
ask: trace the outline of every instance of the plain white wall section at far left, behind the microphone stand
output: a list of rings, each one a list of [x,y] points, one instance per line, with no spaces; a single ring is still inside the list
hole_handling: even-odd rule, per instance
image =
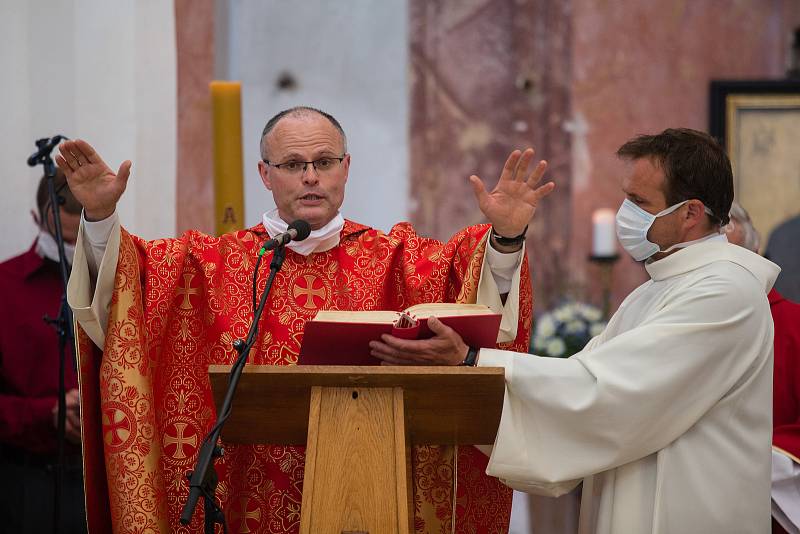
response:
[[[0,0],[0,258],[27,248],[41,167],[34,140],[92,143],[116,169],[133,160],[123,223],[175,232],[175,23],[163,0]]]

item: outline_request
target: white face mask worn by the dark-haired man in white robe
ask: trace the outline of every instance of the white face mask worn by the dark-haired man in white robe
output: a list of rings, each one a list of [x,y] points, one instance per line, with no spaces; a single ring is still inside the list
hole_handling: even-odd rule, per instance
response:
[[[647,239],[647,232],[650,231],[650,227],[657,218],[669,215],[687,202],[689,201],[684,200],[683,202],[678,202],[653,215],[626,198],[617,212],[617,238],[622,248],[633,256],[634,260],[644,261],[658,252],[671,252],[675,249],[684,248],[711,237],[706,236],[685,243],[676,243],[665,250],[661,250],[657,244]],[[705,212],[709,215],[713,215],[708,208],[705,208]],[[712,234],[712,236],[713,235],[714,234]]]

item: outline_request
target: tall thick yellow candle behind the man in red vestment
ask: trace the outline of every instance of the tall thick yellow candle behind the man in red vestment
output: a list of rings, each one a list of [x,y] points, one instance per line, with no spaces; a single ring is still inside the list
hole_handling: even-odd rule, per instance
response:
[[[217,234],[244,226],[242,84],[211,82],[214,137],[214,216]]]

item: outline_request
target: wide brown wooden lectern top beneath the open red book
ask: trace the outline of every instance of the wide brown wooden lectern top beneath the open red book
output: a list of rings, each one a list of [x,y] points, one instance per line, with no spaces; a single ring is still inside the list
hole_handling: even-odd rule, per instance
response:
[[[219,406],[229,365],[208,369]],[[415,445],[494,443],[505,393],[501,367],[247,365],[222,431],[228,443],[305,445],[311,388],[402,388]]]

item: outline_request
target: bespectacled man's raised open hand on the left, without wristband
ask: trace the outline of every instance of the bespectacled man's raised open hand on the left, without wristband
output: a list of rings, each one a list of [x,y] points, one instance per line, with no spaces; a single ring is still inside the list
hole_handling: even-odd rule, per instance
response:
[[[94,148],[82,139],[64,141],[58,147],[56,164],[67,176],[70,190],[83,204],[87,221],[110,217],[117,208],[131,174],[131,162],[123,161],[114,173]]]

